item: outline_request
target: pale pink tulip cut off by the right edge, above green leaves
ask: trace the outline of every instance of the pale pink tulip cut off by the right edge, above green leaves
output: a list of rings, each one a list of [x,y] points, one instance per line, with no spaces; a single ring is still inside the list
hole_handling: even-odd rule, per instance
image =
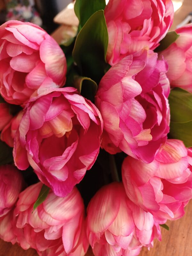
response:
[[[176,29],[179,38],[166,50],[159,53],[169,65],[167,77],[171,87],[180,87],[192,92],[192,24]]]

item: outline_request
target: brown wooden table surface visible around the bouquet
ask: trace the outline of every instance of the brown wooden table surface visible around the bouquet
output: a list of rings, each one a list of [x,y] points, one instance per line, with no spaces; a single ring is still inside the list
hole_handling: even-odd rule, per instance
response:
[[[175,13],[172,30],[176,28],[189,12],[192,12],[192,0],[184,0],[182,7]],[[61,32],[65,27],[61,26],[53,37],[59,42]],[[162,229],[162,242],[154,241],[154,248],[148,251],[143,248],[140,256],[191,256],[192,255],[192,200],[185,208],[186,214],[180,220],[167,221],[170,230]],[[17,244],[12,245],[0,239],[0,256],[37,256],[35,250],[24,251]],[[92,256],[89,249],[86,256]],[[110,256],[110,255],[108,255]]]

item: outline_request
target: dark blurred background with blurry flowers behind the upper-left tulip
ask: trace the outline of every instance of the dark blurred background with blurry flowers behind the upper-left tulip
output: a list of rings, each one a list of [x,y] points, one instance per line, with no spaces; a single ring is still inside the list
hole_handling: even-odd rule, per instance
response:
[[[73,0],[0,0],[0,25],[7,20],[35,23],[52,33],[53,18]]]

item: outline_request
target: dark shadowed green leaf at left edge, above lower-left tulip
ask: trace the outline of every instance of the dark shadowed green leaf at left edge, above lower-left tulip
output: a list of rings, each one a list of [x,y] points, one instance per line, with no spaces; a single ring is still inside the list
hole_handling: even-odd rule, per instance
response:
[[[0,165],[13,162],[13,149],[0,140]]]

